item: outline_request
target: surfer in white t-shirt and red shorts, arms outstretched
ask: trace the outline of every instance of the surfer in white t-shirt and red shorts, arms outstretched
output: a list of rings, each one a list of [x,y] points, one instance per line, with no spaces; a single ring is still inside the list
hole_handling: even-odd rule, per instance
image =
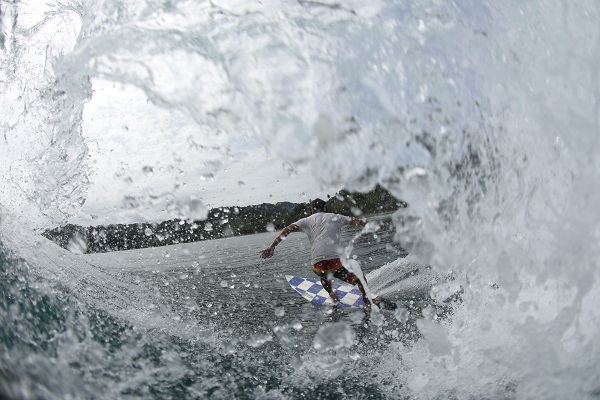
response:
[[[279,235],[273,240],[269,247],[260,251],[262,258],[270,258],[275,252],[275,247],[281,243],[290,233],[303,232],[308,236],[311,249],[311,263],[315,274],[321,278],[323,288],[329,293],[331,300],[337,303],[337,296],[331,287],[331,278],[337,278],[351,285],[357,285],[362,294],[365,306],[370,306],[371,302],[367,297],[365,288],[358,277],[348,271],[340,259],[342,246],[340,245],[340,236],[342,229],[346,225],[365,226],[367,221],[359,218],[347,217],[345,215],[328,213],[325,211],[325,201],[315,199],[311,201],[311,212],[309,217],[302,218],[293,224],[283,228]],[[367,279],[363,275],[363,279]],[[373,299],[374,304],[379,304],[381,298],[378,296]]]

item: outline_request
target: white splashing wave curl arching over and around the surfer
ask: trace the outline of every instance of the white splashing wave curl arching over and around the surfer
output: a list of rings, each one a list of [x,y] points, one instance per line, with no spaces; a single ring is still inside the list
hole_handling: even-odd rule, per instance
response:
[[[88,343],[89,315],[64,311],[83,307],[68,284],[75,261],[39,257],[34,233],[85,202],[85,107],[96,86],[116,84],[193,119],[196,143],[226,153],[256,137],[324,186],[380,183],[410,204],[394,214],[396,240],[434,271],[454,270],[465,293],[452,319],[418,323],[423,340],[373,349],[377,382],[393,382],[383,393],[597,397],[597,2],[405,3],[0,3],[3,363],[51,369],[65,348],[75,358],[52,372],[63,386],[0,368],[7,393],[85,397],[93,385],[71,375],[74,363],[97,356],[108,370],[137,357]],[[92,304],[114,309],[107,298]],[[53,330],[60,343],[31,344]],[[161,365],[183,374],[176,359]]]

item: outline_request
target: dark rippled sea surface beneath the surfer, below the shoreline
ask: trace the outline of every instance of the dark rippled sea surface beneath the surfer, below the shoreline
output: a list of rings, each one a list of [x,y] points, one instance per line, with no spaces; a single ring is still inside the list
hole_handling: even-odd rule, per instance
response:
[[[379,218],[385,220],[386,218]],[[387,218],[389,220],[389,218]],[[345,240],[359,230],[345,232]],[[352,256],[367,273],[405,255],[392,231],[361,236]],[[423,290],[375,314],[306,302],[284,275],[311,276],[309,243],[293,235],[262,260],[273,233],[162,248],[73,255],[36,243],[36,262],[55,276],[58,293],[20,279],[4,263],[3,390],[9,398],[387,398],[397,382],[377,378],[381,348],[411,345],[432,306],[437,277],[402,260]],[[61,260],[56,263],[53,260]],[[393,260],[393,261],[390,261]],[[380,269],[378,269],[380,270]],[[85,271],[85,272],[84,272]],[[47,271],[49,272],[49,271]],[[3,283],[4,283],[3,282]],[[73,286],[70,286],[70,284]],[[25,295],[18,295],[18,288]],[[371,284],[377,290],[377,284]],[[75,300],[77,299],[77,300]],[[427,308],[429,306],[429,308]],[[21,316],[21,314],[24,314]],[[435,316],[435,317],[433,317]],[[21,319],[22,317],[22,319]],[[20,320],[20,321],[19,321]],[[13,331],[19,321],[19,329]],[[18,357],[35,350],[35,357]],[[15,357],[17,356],[17,357]],[[13,358],[15,357],[15,358]],[[81,358],[83,357],[83,358]],[[363,374],[372,375],[372,382]]]

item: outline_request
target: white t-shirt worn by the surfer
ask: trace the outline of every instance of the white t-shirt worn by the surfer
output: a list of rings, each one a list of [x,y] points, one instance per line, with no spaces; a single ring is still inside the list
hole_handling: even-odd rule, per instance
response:
[[[308,235],[311,263],[339,258],[343,252],[340,244],[342,228],[350,224],[352,218],[332,213],[316,213],[295,222],[300,231]]]

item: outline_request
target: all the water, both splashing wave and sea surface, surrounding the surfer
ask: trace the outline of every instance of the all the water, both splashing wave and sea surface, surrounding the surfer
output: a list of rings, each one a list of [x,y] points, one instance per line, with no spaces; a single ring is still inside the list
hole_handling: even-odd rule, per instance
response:
[[[597,2],[33,3],[0,2],[2,396],[600,397]],[[207,177],[251,139],[323,187],[383,185],[409,207],[352,246],[372,290],[462,302],[315,308],[283,282],[305,244],[254,257],[274,233],[56,248],[40,229],[88,200],[115,87],[200,127],[159,139]],[[170,212],[203,213],[178,190]]]

